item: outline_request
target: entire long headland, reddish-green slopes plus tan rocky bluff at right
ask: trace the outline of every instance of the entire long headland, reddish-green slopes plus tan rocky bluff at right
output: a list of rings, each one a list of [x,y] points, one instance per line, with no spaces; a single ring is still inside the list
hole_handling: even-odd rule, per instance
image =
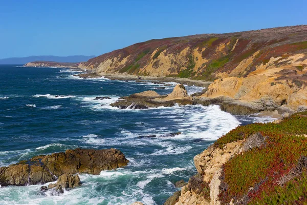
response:
[[[79,67],[98,75],[215,80],[203,97],[305,110],[307,25],[152,39]]]

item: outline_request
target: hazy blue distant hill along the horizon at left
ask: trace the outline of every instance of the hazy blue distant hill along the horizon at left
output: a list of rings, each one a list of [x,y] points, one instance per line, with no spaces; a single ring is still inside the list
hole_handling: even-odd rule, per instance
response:
[[[26,64],[32,61],[55,61],[59,63],[79,63],[87,61],[95,55],[71,55],[71,56],[54,56],[54,55],[39,55],[39,56],[28,56],[28,57],[11,57],[0,59],[0,64]]]

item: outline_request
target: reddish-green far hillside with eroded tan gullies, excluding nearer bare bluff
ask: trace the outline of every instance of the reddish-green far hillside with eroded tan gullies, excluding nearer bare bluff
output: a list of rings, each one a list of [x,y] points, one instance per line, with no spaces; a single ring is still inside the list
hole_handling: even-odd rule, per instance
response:
[[[306,65],[288,59],[298,53],[307,53],[307,26],[152,39],[92,58],[82,67],[96,73],[213,80],[247,76],[272,57],[278,57],[276,67],[289,64],[301,71]]]

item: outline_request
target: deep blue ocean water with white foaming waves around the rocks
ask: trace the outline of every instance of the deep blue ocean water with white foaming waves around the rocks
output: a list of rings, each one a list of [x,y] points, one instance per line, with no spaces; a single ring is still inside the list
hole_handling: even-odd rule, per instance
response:
[[[176,83],[162,90],[163,84],[149,81],[81,79],[76,73],[0,65],[0,166],[77,147],[120,149],[128,166],[81,174],[82,186],[61,196],[40,192],[39,185],[2,187],[0,204],[163,204],[178,190],[174,182],[196,173],[193,157],[214,140],[238,125],[273,119],[233,116],[218,106],[120,110],[109,104],[146,90],[167,94]],[[111,99],[94,100],[98,96]],[[138,137],[174,132],[182,134]]]

